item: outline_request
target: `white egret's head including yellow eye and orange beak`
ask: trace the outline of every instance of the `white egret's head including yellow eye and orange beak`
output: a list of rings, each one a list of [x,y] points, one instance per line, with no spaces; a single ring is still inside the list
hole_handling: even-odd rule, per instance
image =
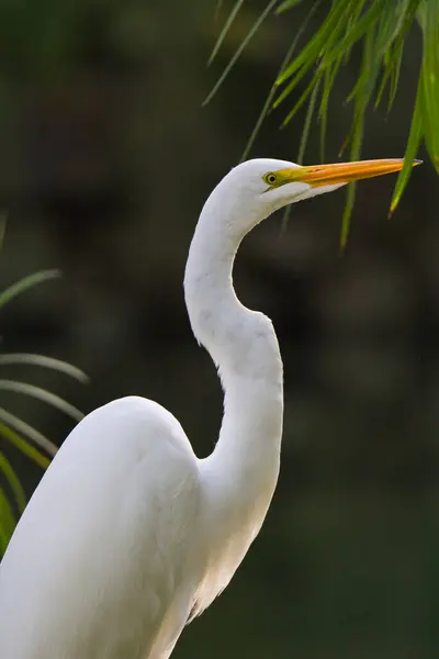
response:
[[[414,165],[419,163],[415,160]],[[286,160],[257,158],[227,174],[216,188],[217,201],[221,200],[223,212],[227,204],[229,217],[234,217],[229,228],[246,234],[289,203],[331,192],[350,181],[398,171],[403,165],[403,158],[392,158],[303,167]]]

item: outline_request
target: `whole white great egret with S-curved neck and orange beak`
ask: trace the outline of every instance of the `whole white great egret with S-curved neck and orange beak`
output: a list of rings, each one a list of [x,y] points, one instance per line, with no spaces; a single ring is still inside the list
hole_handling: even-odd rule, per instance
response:
[[[232,268],[274,210],[403,160],[243,163],[207,199],[184,277],[191,326],[225,402],[213,454],[128,396],[91,412],[43,477],[0,566],[1,659],[167,659],[228,584],[278,480],[282,361],[271,321],[239,303]]]

